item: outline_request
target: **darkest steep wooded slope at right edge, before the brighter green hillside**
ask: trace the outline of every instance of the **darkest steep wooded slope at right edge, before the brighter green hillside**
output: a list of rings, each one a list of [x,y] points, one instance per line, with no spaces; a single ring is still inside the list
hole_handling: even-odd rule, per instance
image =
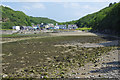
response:
[[[120,31],[120,3],[113,6],[107,16],[96,26],[99,30],[108,29],[117,32]]]

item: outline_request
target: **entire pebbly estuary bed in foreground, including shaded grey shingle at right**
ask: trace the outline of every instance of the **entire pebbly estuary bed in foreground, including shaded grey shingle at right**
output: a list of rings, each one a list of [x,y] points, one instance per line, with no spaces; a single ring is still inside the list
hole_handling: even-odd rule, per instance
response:
[[[3,77],[118,78],[119,40],[61,34],[2,43]]]

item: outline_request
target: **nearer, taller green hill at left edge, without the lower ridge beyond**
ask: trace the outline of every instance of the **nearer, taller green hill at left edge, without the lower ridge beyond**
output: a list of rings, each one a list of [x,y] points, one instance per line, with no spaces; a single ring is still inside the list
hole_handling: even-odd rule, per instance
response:
[[[8,7],[2,6],[2,28],[10,29],[12,26],[18,25],[31,25],[29,16],[25,15],[22,11],[14,11]]]

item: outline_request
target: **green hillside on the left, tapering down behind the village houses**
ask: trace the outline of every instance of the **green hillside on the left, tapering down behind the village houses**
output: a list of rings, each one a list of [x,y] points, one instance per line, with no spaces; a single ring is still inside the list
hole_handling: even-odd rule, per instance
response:
[[[56,21],[42,17],[27,16],[22,11],[14,11],[9,7],[0,6],[2,11],[2,29],[11,29],[12,26],[31,26],[31,23],[56,23]]]

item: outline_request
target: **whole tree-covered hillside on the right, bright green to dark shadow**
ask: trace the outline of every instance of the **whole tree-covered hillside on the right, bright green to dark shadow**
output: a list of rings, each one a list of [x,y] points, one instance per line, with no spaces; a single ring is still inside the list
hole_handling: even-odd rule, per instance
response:
[[[79,27],[92,27],[93,30],[120,30],[120,3],[110,4],[99,12],[89,14],[79,19]]]

